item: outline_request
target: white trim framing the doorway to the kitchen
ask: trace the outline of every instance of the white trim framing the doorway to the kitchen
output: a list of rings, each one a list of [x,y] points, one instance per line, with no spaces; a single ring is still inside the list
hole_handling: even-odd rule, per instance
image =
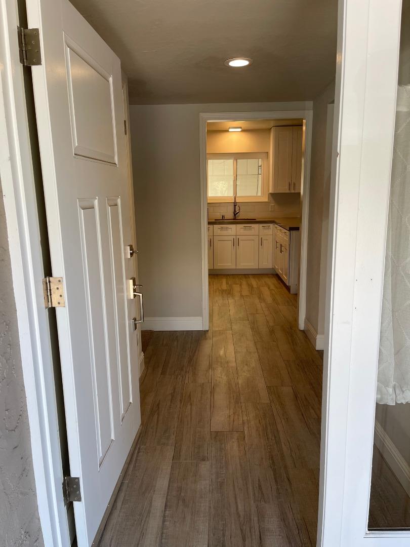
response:
[[[301,260],[299,284],[298,326],[304,328],[306,317],[306,263],[307,228],[309,216],[309,187],[311,172],[312,120],[313,110],[274,110],[253,112],[201,112],[200,113],[200,170],[201,170],[201,251],[202,251],[202,328],[209,329],[208,294],[208,200],[207,200],[207,122],[236,120],[283,120],[303,119],[304,126],[304,162],[301,184],[302,224],[301,224]]]

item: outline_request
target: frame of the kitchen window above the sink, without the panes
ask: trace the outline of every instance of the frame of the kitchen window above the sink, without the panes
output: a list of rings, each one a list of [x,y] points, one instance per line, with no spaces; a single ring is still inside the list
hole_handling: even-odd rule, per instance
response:
[[[232,196],[209,196],[208,195],[208,160],[233,160],[233,195]],[[236,191],[236,160],[262,160],[262,188],[260,196],[236,196],[238,203],[252,201],[269,201],[269,177],[268,177],[268,153],[267,152],[241,152],[224,154],[207,154],[207,200],[208,203],[232,203]]]

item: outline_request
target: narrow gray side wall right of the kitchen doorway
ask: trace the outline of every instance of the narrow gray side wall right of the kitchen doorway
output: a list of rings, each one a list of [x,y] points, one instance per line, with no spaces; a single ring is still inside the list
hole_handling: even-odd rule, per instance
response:
[[[322,224],[324,214],[327,105],[335,99],[335,82],[313,101],[311,188],[309,192],[309,222],[306,276],[306,319],[318,334],[324,334],[323,318],[319,325],[320,264]],[[329,200],[329,188],[327,188]],[[329,207],[325,207],[327,214]],[[323,276],[322,276],[323,277]]]

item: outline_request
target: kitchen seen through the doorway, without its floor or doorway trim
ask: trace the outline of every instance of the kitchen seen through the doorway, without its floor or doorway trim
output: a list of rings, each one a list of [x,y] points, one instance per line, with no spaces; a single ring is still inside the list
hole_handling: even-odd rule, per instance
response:
[[[298,293],[303,120],[208,122],[208,269]]]

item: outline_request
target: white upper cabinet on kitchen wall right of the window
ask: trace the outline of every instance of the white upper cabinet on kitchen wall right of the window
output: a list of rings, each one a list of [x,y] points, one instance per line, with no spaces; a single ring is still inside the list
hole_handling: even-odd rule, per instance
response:
[[[296,193],[302,181],[302,126],[272,127],[270,192]]]

